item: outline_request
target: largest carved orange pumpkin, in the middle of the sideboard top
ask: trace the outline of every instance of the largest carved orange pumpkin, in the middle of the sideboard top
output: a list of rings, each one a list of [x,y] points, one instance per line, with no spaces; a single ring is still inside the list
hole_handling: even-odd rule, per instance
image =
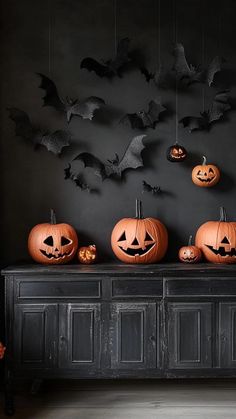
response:
[[[125,263],[155,263],[168,246],[166,227],[156,218],[143,218],[142,203],[136,201],[136,218],[123,218],[111,235],[112,250]]]

